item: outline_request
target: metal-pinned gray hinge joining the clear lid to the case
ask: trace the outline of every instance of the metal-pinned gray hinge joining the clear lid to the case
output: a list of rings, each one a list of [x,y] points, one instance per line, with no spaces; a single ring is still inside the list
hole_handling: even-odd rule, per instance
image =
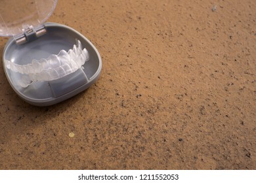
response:
[[[46,32],[47,30],[45,25],[40,25],[39,27],[33,27],[31,25],[30,27],[24,29],[23,33],[14,36],[14,39],[16,44],[24,44],[25,42],[30,42],[37,39],[37,37],[44,35]]]

